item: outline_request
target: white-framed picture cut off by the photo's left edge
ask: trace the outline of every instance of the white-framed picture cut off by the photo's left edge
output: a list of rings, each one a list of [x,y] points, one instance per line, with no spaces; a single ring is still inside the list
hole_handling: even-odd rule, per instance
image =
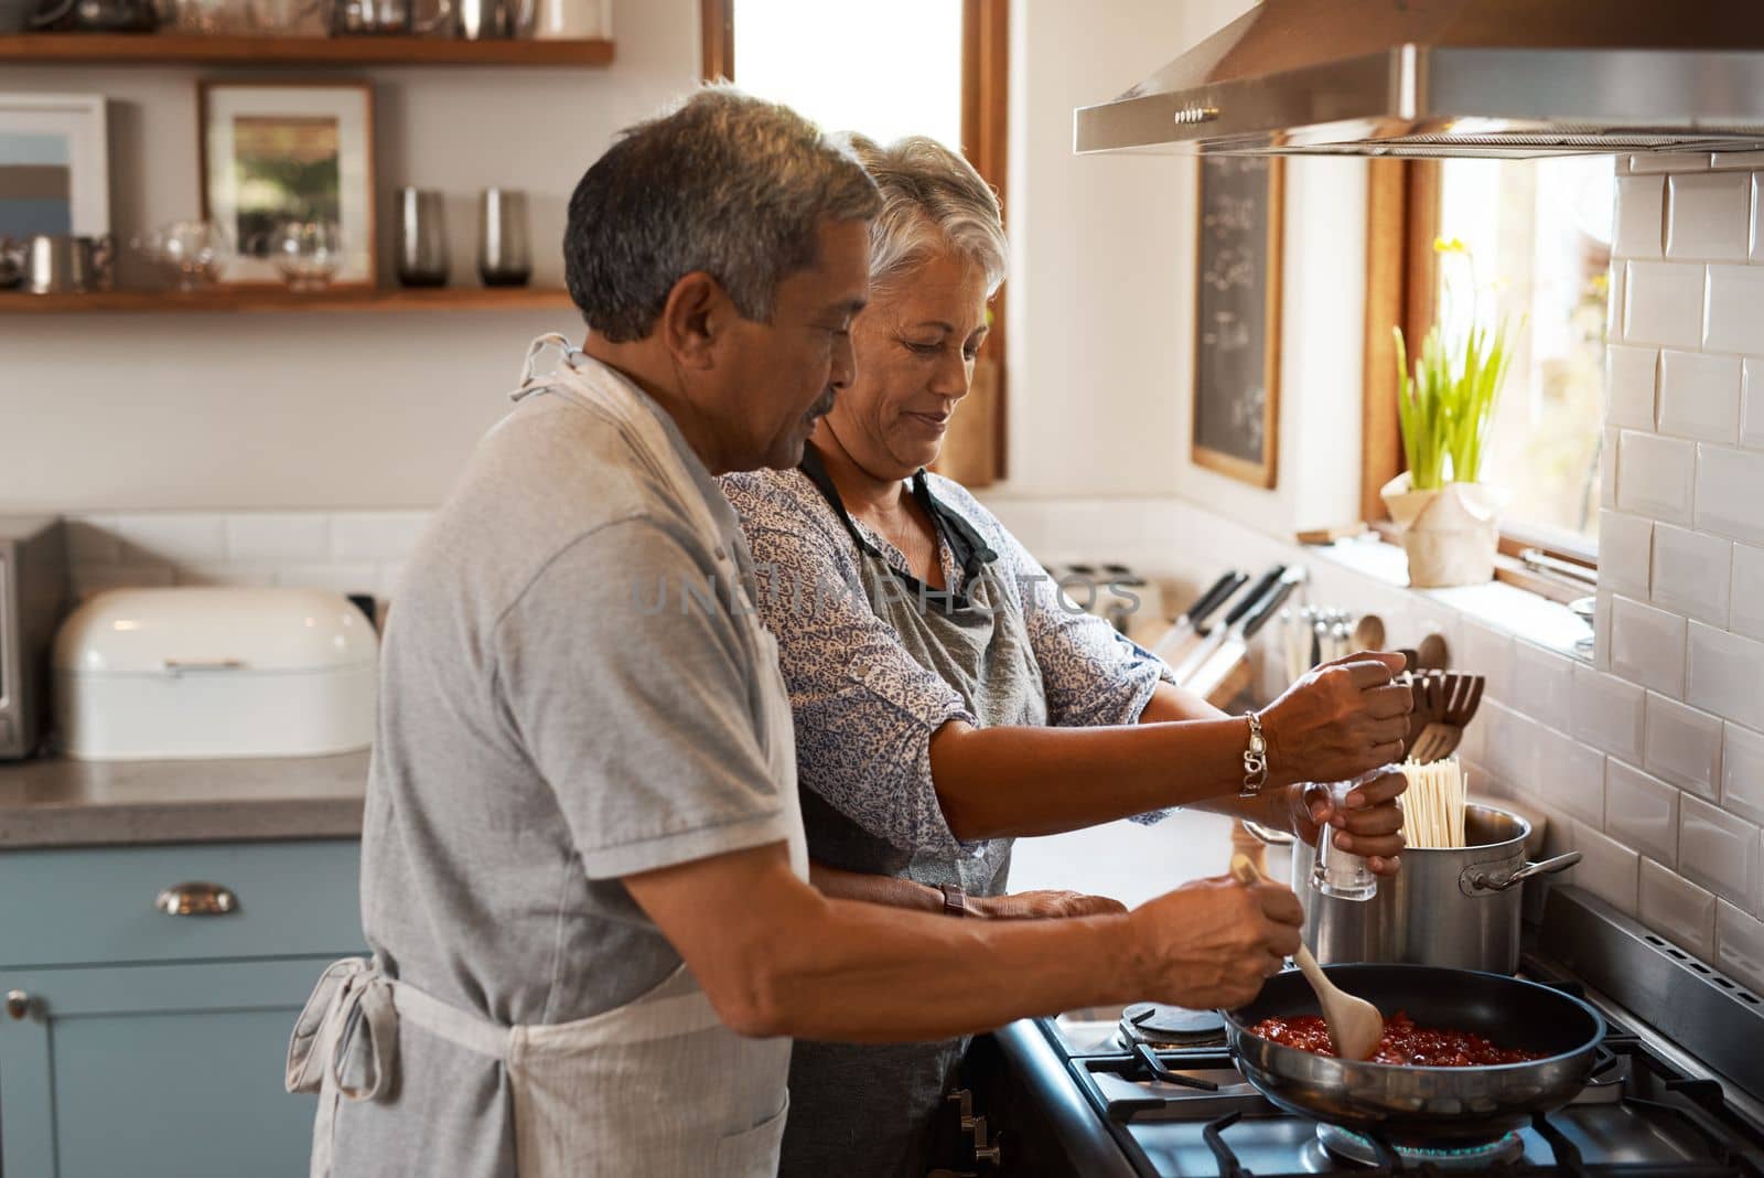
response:
[[[104,97],[0,93],[0,238],[109,235]]]

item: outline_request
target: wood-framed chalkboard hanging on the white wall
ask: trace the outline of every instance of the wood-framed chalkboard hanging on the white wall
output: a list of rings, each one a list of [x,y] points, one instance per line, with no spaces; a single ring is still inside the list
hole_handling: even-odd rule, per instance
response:
[[[1194,270],[1194,462],[1274,487],[1281,160],[1203,155]]]

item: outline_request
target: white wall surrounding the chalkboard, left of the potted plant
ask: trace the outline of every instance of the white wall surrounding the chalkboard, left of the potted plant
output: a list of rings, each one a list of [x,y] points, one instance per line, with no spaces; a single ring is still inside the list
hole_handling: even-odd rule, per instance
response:
[[[1365,164],[1286,160],[1272,492],[1189,462],[1196,164],[1071,152],[1099,102],[1252,7],[1013,9],[1011,480],[990,499],[1182,496],[1272,534],[1358,517]]]

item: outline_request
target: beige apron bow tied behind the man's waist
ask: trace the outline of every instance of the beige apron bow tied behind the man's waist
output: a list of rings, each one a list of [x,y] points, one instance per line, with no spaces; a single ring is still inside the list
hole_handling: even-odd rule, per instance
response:
[[[356,1030],[367,1025],[365,1077],[344,1079],[344,1065]],[[377,1100],[392,1086],[399,1056],[399,1012],[392,982],[367,958],[332,961],[312,988],[312,996],[295,1021],[288,1040],[288,1092],[319,1093],[312,1122],[312,1173],[328,1174],[332,1129],[340,1099]]]

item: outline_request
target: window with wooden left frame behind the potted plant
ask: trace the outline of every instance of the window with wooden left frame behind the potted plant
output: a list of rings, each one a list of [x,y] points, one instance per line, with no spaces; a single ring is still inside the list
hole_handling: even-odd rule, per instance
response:
[[[1402,326],[1413,354],[1436,316],[1448,332],[1462,324],[1475,287],[1485,323],[1512,321],[1514,358],[1482,469],[1512,494],[1503,550],[1596,557],[1614,176],[1605,155],[1372,162],[1365,518],[1385,518],[1378,488],[1402,469],[1390,326]],[[1466,254],[1439,254],[1436,242],[1461,242]]]

